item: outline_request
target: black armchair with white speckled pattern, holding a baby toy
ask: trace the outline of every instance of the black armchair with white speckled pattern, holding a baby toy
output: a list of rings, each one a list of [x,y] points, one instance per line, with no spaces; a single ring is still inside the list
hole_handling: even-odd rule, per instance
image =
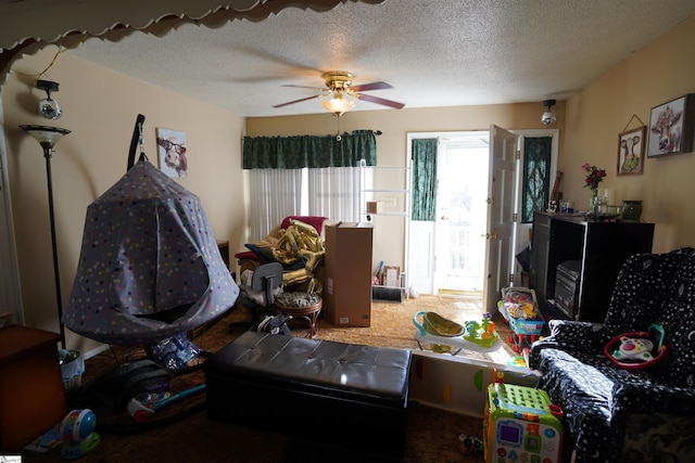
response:
[[[614,364],[615,336],[665,331],[668,355],[645,369]],[[529,366],[566,416],[577,462],[695,461],[695,248],[632,256],[602,324],[552,320]]]

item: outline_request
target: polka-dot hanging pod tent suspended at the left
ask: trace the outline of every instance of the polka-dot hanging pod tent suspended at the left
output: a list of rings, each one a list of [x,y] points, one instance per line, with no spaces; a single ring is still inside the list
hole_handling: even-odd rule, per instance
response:
[[[63,323],[106,344],[154,343],[219,317],[238,295],[200,198],[141,159],[87,208]]]

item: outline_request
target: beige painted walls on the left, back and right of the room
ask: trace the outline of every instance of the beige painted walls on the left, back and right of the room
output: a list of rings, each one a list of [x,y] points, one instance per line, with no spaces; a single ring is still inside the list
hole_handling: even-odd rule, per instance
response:
[[[558,102],[559,168],[565,172],[565,197],[589,201],[581,165],[606,168],[602,187],[616,191],[616,200],[644,200],[643,219],[654,221],[655,250],[693,245],[695,203],[688,201],[693,153],[646,159],[644,175],[617,177],[617,141],[633,115],[648,124],[649,111],[673,98],[695,92],[695,16],[571,98]],[[55,331],[53,273],[46,200],[46,173],[38,143],[17,129],[21,124],[45,124],[35,105],[42,98],[31,90],[33,78],[53,59],[55,48],[15,62],[2,89],[8,168],[22,279],[26,322]],[[197,193],[217,237],[242,249],[247,216],[244,176],[240,169],[240,138],[249,136],[326,134],[338,131],[334,117],[312,116],[243,118],[198,103],[127,76],[108,72],[68,55],[61,55],[46,78],[59,81],[55,98],[65,115],[58,126],[73,130],[58,145],[52,162],[56,196],[56,227],[63,299],[72,287],[84,216],[88,204],[124,172],[135,117],[147,116],[146,152],[156,165],[154,128],[186,131],[191,153],[190,177],[181,184]],[[460,91],[465,91],[462,89]],[[541,102],[491,106],[405,108],[348,113],[341,131],[381,130],[379,165],[404,166],[408,132],[485,130],[491,124],[507,129],[542,129]],[[245,124],[245,128],[244,128]],[[633,125],[630,126],[632,128]],[[462,172],[470,175],[470,172]],[[375,230],[378,258],[402,260],[402,231]],[[383,256],[383,257],[381,257]],[[68,346],[88,350],[90,342],[68,336]],[[87,349],[86,347],[87,346]]]

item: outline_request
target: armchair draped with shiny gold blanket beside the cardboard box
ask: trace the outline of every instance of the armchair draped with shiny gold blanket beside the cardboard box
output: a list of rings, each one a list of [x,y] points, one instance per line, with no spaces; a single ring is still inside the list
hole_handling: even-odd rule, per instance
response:
[[[247,244],[249,250],[237,253],[239,274],[263,263],[280,262],[282,285],[294,291],[321,294],[324,265],[324,224],[326,217],[288,216],[258,243]]]

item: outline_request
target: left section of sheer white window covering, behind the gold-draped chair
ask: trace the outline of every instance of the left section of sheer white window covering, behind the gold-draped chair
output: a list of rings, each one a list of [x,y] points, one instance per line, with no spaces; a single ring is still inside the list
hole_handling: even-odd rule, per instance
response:
[[[302,214],[303,169],[251,169],[251,242],[267,236],[287,216]]]

